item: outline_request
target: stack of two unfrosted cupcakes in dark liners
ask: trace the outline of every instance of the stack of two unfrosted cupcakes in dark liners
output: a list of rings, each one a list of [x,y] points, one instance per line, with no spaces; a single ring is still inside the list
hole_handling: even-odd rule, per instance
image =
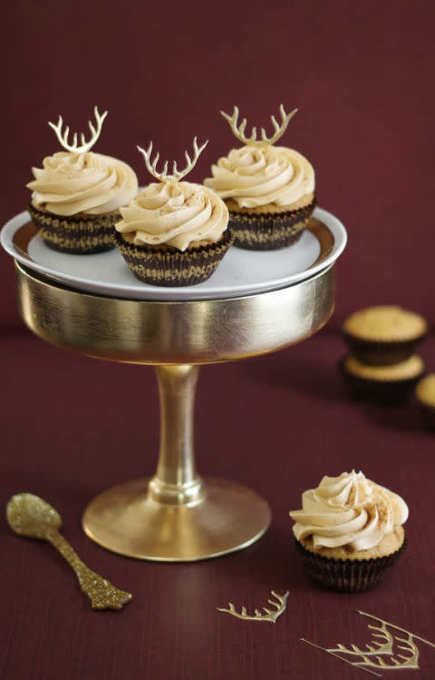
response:
[[[341,369],[353,396],[405,400],[425,370],[415,350],[427,331],[420,314],[394,306],[359,310],[346,319],[343,335],[351,351]]]

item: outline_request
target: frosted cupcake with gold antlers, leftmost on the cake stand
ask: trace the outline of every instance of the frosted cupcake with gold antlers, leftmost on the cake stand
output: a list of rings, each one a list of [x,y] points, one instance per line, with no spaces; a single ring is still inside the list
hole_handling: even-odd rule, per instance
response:
[[[43,159],[42,168],[33,168],[34,181],[28,211],[40,229],[43,242],[54,251],[86,254],[113,248],[114,224],[120,207],[138,192],[135,172],[127,163],[91,148],[102,130],[107,115],[94,109],[96,128],[89,122],[92,137],[77,145],[68,143],[69,128],[62,135],[63,120],[49,123],[65,151]]]

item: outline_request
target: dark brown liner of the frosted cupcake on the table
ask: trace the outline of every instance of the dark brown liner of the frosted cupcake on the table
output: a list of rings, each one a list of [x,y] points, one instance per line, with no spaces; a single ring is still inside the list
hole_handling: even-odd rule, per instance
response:
[[[391,555],[372,559],[333,559],[316,555],[307,550],[297,539],[295,539],[295,545],[302,556],[306,573],[316,583],[329,590],[362,593],[380,583],[385,573],[401,557],[406,547],[406,539]]]

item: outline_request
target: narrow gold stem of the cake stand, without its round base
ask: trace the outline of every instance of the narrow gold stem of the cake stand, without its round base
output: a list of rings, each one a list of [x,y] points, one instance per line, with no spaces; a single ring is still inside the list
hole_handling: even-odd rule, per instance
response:
[[[155,368],[160,393],[160,454],[150,497],[167,505],[200,502],[203,485],[195,469],[193,419],[198,367],[189,364]]]

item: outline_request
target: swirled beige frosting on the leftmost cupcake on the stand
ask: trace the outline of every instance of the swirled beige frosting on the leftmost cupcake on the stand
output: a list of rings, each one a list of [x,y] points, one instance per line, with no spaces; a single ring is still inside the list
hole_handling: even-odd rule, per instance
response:
[[[34,181],[27,186],[34,207],[56,215],[113,212],[138,192],[130,165],[101,153],[54,153],[32,172]]]

